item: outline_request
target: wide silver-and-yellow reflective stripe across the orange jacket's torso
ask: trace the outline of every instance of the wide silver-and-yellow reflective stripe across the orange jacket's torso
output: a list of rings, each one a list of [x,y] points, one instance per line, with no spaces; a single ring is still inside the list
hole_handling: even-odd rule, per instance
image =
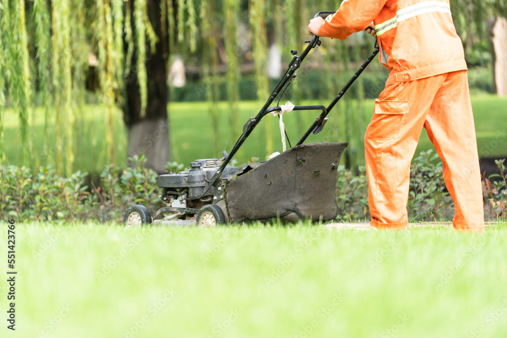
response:
[[[425,1],[419,4],[415,4],[397,11],[394,18],[376,25],[375,31],[377,32],[377,36],[379,36],[386,31],[396,27],[400,21],[413,18],[414,16],[420,14],[436,12],[447,13],[450,15],[451,6],[448,3],[442,1]]]

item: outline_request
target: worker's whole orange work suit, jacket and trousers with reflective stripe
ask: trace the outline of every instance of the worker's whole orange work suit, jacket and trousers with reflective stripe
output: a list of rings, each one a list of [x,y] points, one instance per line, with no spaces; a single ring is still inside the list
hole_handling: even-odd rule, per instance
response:
[[[454,228],[482,232],[467,68],[449,1],[344,0],[318,35],[345,40],[372,21],[380,62],[390,70],[365,135],[372,226],[407,228],[410,163],[424,127],[444,165]]]

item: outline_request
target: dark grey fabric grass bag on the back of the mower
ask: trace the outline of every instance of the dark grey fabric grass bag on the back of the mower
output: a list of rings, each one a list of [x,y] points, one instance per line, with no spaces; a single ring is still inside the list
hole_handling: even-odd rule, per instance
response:
[[[225,183],[229,221],[335,219],[337,169],[347,146],[307,143],[243,166]]]

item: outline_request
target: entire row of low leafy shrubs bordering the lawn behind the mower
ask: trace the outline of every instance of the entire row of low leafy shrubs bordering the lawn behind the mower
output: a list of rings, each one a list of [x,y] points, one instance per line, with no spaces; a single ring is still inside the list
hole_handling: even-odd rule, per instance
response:
[[[158,197],[158,175],[143,167],[143,155],[129,161],[132,166],[127,169],[107,166],[100,174],[100,186],[92,187],[85,183],[85,172],[59,177],[52,168],[41,167],[32,174],[26,167],[0,166],[0,213],[20,220],[122,221],[130,205],[144,204],[153,214],[164,205]],[[501,174],[491,175],[492,180],[483,178],[485,216],[489,220],[507,216],[507,175],[503,161],[497,165]],[[175,162],[166,167],[173,172],[185,169]],[[370,218],[365,167],[357,172],[338,168],[336,199],[341,220]],[[445,189],[442,162],[432,151],[420,153],[412,162],[407,209],[411,221],[450,220],[453,216],[454,204]]]

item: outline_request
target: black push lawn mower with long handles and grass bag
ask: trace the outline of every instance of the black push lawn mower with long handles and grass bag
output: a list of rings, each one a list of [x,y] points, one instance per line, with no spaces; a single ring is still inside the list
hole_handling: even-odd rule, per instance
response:
[[[319,12],[323,19],[335,12]],[[125,213],[126,227],[161,224],[171,226],[214,227],[218,224],[266,221],[313,220],[329,221],[338,215],[336,204],[337,169],[348,143],[304,143],[308,136],[322,131],[328,114],[350,88],[363,70],[379,53],[379,46],[328,107],[322,105],[292,105],[270,107],[277,97],[296,79],[297,70],[309,52],[320,46],[318,36],[307,41],[301,55],[291,51],[294,58],[288,65],[270,97],[255,118],[243,126],[243,133],[231,152],[221,159],[196,160],[190,169],[177,174],[160,175],[157,186],[166,207],[153,217],[142,205],[133,205]],[[278,101],[279,102],[279,101]],[[241,168],[228,166],[238,149],[266,115],[280,115],[291,110],[320,111],[298,143],[269,161],[249,163]],[[282,129],[282,128],[281,128]],[[284,132],[284,131],[283,131]],[[286,133],[282,141],[285,141]],[[290,145],[290,142],[289,142]]]

